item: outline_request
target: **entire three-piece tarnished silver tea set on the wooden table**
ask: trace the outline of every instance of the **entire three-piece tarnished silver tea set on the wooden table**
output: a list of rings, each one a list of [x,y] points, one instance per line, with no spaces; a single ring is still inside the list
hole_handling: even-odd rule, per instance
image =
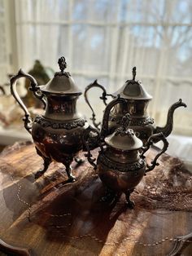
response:
[[[166,137],[172,132],[173,113],[176,108],[186,107],[186,104],[179,99],[168,109],[166,125],[155,126],[154,119],[147,114],[152,96],[135,79],[134,67],[133,78],[112,94],[108,94],[97,81],[85,88],[85,102],[93,113],[92,127],[77,111],[76,101],[82,92],[71,74],[65,71],[65,58],[59,58],[58,64],[60,71],[44,86],[38,86],[34,77],[21,69],[11,77],[11,94],[24,111],[24,127],[32,135],[37,154],[44,162],[44,168],[37,171],[35,178],[46,172],[51,161],[57,161],[65,166],[68,181],[74,182],[71,164],[73,160],[81,163],[78,153],[84,151],[107,188],[103,201],[111,201],[123,192],[129,207],[133,207],[130,194],[143,175],[158,165],[157,159],[168,148]],[[45,112],[33,120],[16,90],[16,82],[20,77],[30,81],[29,90],[44,105]],[[106,104],[101,126],[96,122],[94,109],[87,96],[87,92],[93,87],[103,90],[100,98]],[[109,97],[111,102],[107,104]],[[151,165],[146,165],[145,152],[160,140],[164,143],[163,148],[157,152]],[[100,148],[97,159],[91,154],[94,148]]]

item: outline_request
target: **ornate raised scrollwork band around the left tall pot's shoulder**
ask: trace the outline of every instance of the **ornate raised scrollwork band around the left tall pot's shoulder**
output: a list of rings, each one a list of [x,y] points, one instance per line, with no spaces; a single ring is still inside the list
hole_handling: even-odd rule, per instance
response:
[[[71,122],[59,122],[59,121],[50,121],[45,119],[44,117],[37,116],[35,117],[34,122],[37,122],[40,124],[42,127],[51,127],[53,129],[66,129],[66,130],[72,130],[78,126],[83,127],[85,126],[85,119],[77,119],[75,121]]]

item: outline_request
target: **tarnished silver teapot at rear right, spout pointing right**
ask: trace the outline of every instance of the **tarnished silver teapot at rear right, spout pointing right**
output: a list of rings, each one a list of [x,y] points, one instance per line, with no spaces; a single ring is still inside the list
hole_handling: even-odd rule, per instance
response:
[[[117,95],[120,95],[120,98],[125,99],[123,103],[116,104],[116,106],[111,109],[109,117],[109,130],[111,133],[121,125],[122,117],[124,117],[126,113],[129,113],[131,115],[129,127],[135,132],[138,132],[138,137],[142,139],[143,143],[145,143],[151,135],[159,132],[162,132],[164,136],[167,137],[172,132],[173,113],[175,109],[181,106],[186,107],[186,104],[179,99],[178,102],[172,104],[172,106],[168,109],[166,125],[164,127],[155,126],[154,119],[149,117],[147,113],[147,107],[152,99],[152,96],[147,93],[142,85],[142,82],[135,80],[135,77],[136,67],[133,68],[133,79],[126,81],[120,90],[112,94],[107,94],[106,89],[99,85],[97,80],[85,88],[85,101],[89,105],[89,108],[91,108],[91,119],[94,127],[98,129],[100,123],[96,121],[94,108],[92,108],[91,104],[89,103],[87,93],[91,88],[98,87],[103,90],[103,95],[100,97],[100,99],[103,99],[105,105],[107,105],[108,96],[111,96],[114,99]]]

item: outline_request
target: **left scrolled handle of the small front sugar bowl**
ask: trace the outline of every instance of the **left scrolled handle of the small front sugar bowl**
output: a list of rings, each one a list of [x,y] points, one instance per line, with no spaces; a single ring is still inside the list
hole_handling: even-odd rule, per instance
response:
[[[85,153],[85,157],[87,157],[87,160],[89,161],[89,164],[91,166],[94,166],[94,170],[96,170],[97,169],[97,165],[94,162],[94,161],[96,161],[96,158],[93,158],[93,155],[91,154],[91,149],[90,149],[90,146],[89,146],[89,142],[88,142],[88,139],[91,139],[90,132],[94,132],[94,133],[97,134],[97,137],[94,138],[94,144],[95,145],[91,149],[98,148],[98,146],[99,146],[101,148],[101,151],[103,152],[103,145],[101,143],[100,133],[98,132],[98,130],[94,129],[91,126],[89,126],[85,130],[82,140],[83,140],[83,145],[85,146],[85,151],[87,152],[87,153]],[[92,137],[92,139],[93,139],[93,137]]]

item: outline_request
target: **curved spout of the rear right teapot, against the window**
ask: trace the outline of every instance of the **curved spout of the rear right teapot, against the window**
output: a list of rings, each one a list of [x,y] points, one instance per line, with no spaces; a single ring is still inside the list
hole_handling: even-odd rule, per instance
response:
[[[172,104],[172,106],[168,109],[168,117],[167,117],[166,125],[164,127],[157,126],[154,131],[154,134],[162,132],[165,137],[168,137],[168,135],[170,135],[170,133],[172,132],[172,127],[173,127],[173,113],[174,113],[175,109],[179,108],[179,107],[186,108],[186,104],[182,102],[182,99],[179,99],[179,101],[177,101],[175,104]]]

